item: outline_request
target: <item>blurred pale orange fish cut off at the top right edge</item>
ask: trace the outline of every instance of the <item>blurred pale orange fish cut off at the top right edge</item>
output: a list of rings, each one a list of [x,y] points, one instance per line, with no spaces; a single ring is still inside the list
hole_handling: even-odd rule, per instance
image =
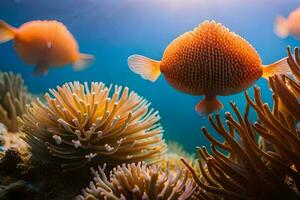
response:
[[[278,16],[275,20],[274,32],[281,38],[292,35],[300,39],[300,7],[292,11],[287,18]]]

